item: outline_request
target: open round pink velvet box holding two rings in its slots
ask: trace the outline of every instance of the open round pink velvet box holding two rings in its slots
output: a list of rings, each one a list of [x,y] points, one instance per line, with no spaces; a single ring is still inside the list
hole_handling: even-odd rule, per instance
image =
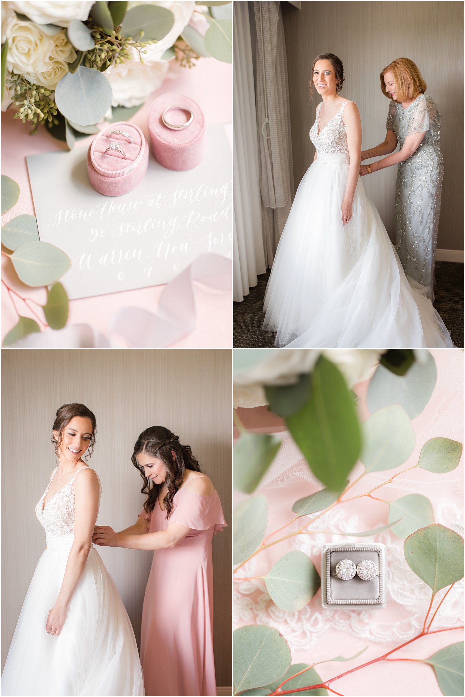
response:
[[[120,130],[127,133],[111,131]],[[111,143],[118,143],[114,150],[105,150]],[[125,153],[123,157],[121,151]],[[143,132],[134,123],[118,121],[100,131],[87,151],[87,171],[94,189],[105,196],[121,196],[142,181],[148,167],[148,143]]]

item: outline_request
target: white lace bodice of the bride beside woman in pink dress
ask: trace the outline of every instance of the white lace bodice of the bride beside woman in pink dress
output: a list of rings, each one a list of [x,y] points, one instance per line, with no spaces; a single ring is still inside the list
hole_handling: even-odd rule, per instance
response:
[[[74,534],[74,487],[73,483],[77,475],[81,470],[88,469],[86,467],[81,467],[77,470],[77,473],[72,477],[72,479],[65,484],[64,487],[58,489],[54,495],[49,498],[45,508],[43,508],[44,500],[47,496],[47,491],[49,490],[50,484],[55,476],[56,467],[50,477],[49,485],[45,489],[38,505],[36,505],[36,516],[39,519],[40,525],[45,528],[45,535],[47,537],[63,537],[63,535],[73,535]],[[102,484],[100,484],[100,479],[97,475],[97,480],[99,483],[99,507],[100,507],[100,495],[102,493]],[[42,510],[43,509],[43,510]]]

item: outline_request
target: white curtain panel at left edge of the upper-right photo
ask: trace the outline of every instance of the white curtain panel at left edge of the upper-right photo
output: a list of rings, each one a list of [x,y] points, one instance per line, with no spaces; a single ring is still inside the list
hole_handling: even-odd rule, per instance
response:
[[[265,273],[249,3],[234,3],[234,300]]]

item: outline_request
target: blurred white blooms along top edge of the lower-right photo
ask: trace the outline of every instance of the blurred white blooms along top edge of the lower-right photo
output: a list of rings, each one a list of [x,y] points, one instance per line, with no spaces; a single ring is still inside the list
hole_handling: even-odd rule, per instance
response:
[[[253,349],[251,349],[253,351]],[[253,408],[268,404],[264,385],[292,385],[301,374],[312,372],[320,355],[338,366],[349,388],[367,380],[384,351],[361,348],[281,348],[234,374],[234,406]],[[253,358],[254,354],[250,354]],[[255,355],[263,355],[255,354]]]

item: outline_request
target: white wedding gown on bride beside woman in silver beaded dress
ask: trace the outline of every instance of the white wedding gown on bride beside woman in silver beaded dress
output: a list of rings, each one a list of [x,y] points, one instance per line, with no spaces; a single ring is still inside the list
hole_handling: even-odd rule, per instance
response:
[[[345,102],[347,104],[347,102]],[[349,174],[344,105],[320,134],[285,224],[265,294],[263,328],[292,348],[450,347],[422,286],[408,279],[379,213],[358,179],[342,224]]]

